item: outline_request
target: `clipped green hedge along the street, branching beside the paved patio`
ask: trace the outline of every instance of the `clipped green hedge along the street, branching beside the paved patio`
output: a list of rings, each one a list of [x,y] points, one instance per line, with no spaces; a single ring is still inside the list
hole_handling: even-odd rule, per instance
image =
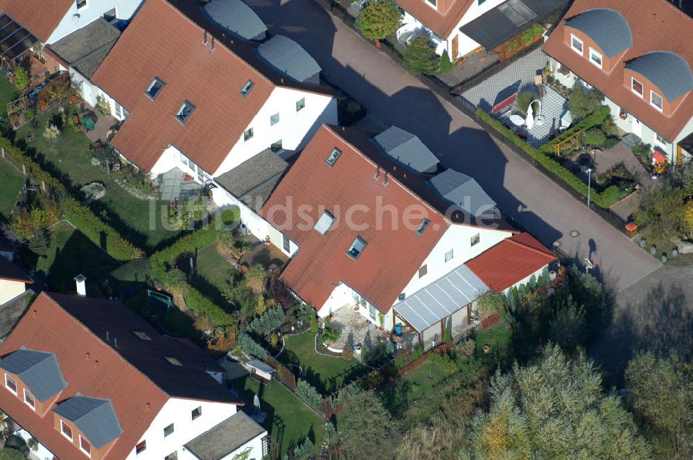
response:
[[[605,107],[606,111],[608,111],[608,107]],[[589,127],[589,126],[594,126],[595,121],[599,118],[602,119],[602,122],[604,121],[604,110],[597,112],[596,114],[590,115],[588,118],[586,118],[584,121],[579,123],[577,126],[574,127],[574,130],[578,129],[585,129],[584,127]],[[558,161],[554,160],[553,158],[548,156],[548,152],[552,151],[552,145],[554,145],[554,141],[558,141],[554,139],[552,143],[548,143],[546,145],[542,146],[542,150],[538,150],[532,145],[529,145],[527,142],[523,141],[520,139],[512,130],[509,130],[505,125],[500,123],[500,121],[496,120],[493,118],[493,116],[487,114],[484,112],[482,109],[477,109],[476,114],[479,118],[484,121],[487,125],[490,127],[493,127],[494,130],[498,131],[500,134],[505,136],[506,139],[517,145],[520,150],[523,150],[526,154],[529,155],[534,161],[537,163],[541,164],[544,168],[549,170],[553,175],[556,177],[559,177],[565,184],[573,188],[575,191],[583,195],[584,197],[587,197],[587,191],[588,187],[587,184],[582,182],[579,177],[574,175],[568,168],[565,168],[565,166],[561,165]],[[606,112],[608,115],[608,112]],[[601,124],[601,123],[597,123]],[[572,130],[572,132],[574,132]],[[562,139],[565,139],[564,136],[569,136],[570,133],[565,133],[561,135]],[[619,191],[617,186],[610,186],[606,188],[606,190],[602,193],[599,193],[595,191],[594,188],[592,188],[592,191],[590,193],[590,197],[593,200],[597,206],[600,208],[606,209],[615,202],[618,201],[619,199]]]

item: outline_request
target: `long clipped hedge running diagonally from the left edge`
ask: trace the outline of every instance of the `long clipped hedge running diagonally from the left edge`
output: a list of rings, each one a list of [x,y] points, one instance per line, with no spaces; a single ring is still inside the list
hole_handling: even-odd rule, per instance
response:
[[[49,172],[44,171],[41,166],[33,161],[28,155],[16,148],[9,139],[0,136],[0,147],[5,150],[10,159],[19,161],[24,165],[28,175],[39,185],[45,184],[46,190],[58,194],[67,195],[67,188]],[[143,251],[125,240],[113,227],[103,220],[87,206],[83,206],[73,197],[68,197],[62,204],[62,212],[65,219],[69,220],[75,227],[93,241],[94,244],[103,249],[114,259],[123,262],[139,258]],[[104,241],[105,238],[105,241]],[[105,244],[103,244],[105,243]]]

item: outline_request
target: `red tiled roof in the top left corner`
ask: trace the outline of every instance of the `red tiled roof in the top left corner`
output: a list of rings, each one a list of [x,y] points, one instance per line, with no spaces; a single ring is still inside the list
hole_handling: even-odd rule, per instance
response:
[[[46,42],[75,4],[75,0],[0,0],[0,10]]]

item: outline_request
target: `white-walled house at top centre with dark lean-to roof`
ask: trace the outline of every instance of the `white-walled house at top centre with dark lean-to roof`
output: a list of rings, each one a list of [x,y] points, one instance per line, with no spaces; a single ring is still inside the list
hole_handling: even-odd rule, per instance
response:
[[[396,36],[423,34],[436,53],[451,60],[478,48],[491,49],[565,5],[565,0],[397,0],[404,10]]]

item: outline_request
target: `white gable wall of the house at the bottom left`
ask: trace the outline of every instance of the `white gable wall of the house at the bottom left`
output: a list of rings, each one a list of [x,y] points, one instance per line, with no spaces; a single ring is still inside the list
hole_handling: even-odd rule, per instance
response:
[[[202,415],[193,420],[191,413],[200,406]],[[236,406],[232,404],[170,398],[137,441],[147,441],[147,449],[137,454],[133,445],[128,460],[161,460],[174,451],[177,451],[178,460],[198,460],[183,446],[234,414]],[[164,428],[171,423],[174,431],[164,438]]]

